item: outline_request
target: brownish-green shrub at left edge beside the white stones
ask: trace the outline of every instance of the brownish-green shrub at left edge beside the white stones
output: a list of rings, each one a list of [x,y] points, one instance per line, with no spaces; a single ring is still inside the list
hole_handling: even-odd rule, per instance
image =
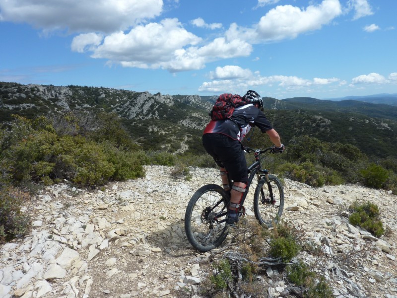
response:
[[[0,187],[0,243],[29,231],[30,218],[21,212],[22,203],[28,196],[28,193],[10,187]]]

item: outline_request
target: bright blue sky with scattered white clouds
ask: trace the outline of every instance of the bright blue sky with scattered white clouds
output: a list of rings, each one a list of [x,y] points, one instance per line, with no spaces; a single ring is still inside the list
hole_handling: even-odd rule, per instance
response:
[[[0,81],[278,99],[397,93],[397,0],[0,0]]]

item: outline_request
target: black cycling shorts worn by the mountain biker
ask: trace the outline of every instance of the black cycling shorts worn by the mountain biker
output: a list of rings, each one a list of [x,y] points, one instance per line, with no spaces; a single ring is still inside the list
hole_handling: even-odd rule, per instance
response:
[[[222,134],[205,134],[202,145],[216,164],[224,167],[230,179],[235,182],[248,182],[247,161],[239,141]]]

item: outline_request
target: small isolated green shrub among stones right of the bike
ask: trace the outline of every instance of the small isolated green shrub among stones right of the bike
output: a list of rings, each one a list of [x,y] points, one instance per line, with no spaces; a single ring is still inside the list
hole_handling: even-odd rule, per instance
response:
[[[379,208],[377,205],[366,202],[359,204],[354,202],[349,207],[353,213],[349,216],[350,224],[359,225],[375,236],[379,237],[385,233],[382,222],[379,218]]]

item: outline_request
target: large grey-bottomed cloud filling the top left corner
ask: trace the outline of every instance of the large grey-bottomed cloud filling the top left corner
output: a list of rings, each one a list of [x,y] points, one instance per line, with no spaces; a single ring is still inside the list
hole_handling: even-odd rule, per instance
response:
[[[0,0],[0,20],[44,31],[111,33],[156,17],[162,9],[163,0]]]

